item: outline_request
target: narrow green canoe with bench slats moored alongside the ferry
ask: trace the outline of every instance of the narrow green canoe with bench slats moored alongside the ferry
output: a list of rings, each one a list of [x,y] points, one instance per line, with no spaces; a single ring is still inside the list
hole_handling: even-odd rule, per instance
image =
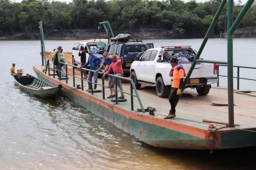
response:
[[[53,86],[46,81],[37,79],[36,77],[31,75],[18,76],[17,78],[13,78],[22,89],[25,89],[29,93],[40,96],[42,98],[55,97],[59,92],[58,87]]]

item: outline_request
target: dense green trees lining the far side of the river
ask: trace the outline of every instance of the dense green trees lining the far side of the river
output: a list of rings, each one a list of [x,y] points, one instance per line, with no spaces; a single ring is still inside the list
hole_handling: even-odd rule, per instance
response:
[[[0,0],[0,35],[45,29],[97,29],[99,22],[110,21],[114,31],[161,28],[177,34],[202,36],[209,27],[221,0],[187,3],[181,0],[23,0],[21,3]],[[243,5],[235,4],[234,19]],[[226,30],[227,7],[219,18],[215,32]],[[256,3],[239,27],[256,26]]]

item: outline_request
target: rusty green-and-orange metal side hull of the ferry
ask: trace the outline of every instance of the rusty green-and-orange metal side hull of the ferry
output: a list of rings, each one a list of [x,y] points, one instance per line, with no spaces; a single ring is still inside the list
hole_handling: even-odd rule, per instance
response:
[[[209,149],[207,126],[198,128],[193,124],[183,125],[148,116],[148,114],[129,111],[101,98],[91,96],[85,91],[74,89],[64,81],[58,81],[40,72],[36,67],[33,69],[39,79],[55,85],[61,84],[63,96],[137,141],[159,148]],[[256,128],[251,130],[256,131]],[[215,136],[217,141],[214,143],[213,149],[256,146],[256,133],[254,132],[228,129],[217,131]]]

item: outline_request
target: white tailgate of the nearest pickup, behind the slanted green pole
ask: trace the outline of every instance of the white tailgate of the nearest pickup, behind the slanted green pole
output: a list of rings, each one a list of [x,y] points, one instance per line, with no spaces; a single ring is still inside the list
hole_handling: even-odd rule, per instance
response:
[[[192,63],[181,63],[186,71],[186,74],[189,72],[189,69]],[[190,78],[207,78],[213,77],[213,64],[212,63],[197,63]]]

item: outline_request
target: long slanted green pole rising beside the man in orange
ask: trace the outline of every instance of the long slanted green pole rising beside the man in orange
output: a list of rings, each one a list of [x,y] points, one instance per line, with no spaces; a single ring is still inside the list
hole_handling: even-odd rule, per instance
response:
[[[226,2],[227,2],[227,0],[222,0],[222,2],[219,5],[219,9],[217,10],[217,12],[215,14],[215,16],[214,16],[214,18],[213,18],[213,20],[212,20],[212,22],[210,24],[210,27],[209,27],[209,29],[208,29],[208,31],[207,31],[204,39],[203,39],[203,42],[202,42],[202,44],[201,44],[201,46],[200,46],[200,48],[198,50],[198,53],[196,54],[196,57],[195,57],[192,65],[191,65],[191,67],[189,69],[189,72],[186,75],[185,81],[183,83],[182,91],[185,89],[185,87],[186,87],[186,85],[188,83],[188,80],[189,80],[189,78],[190,78],[190,76],[191,76],[191,74],[192,74],[192,72],[193,72],[193,70],[195,68],[196,63],[197,63],[196,60],[199,59],[199,57],[200,57],[200,55],[202,53],[202,50],[203,50],[204,46],[206,45],[206,43],[207,43],[207,41],[208,41],[208,39],[210,37],[210,34],[211,34],[214,26],[216,25],[216,23],[218,21],[218,18],[219,18],[219,15],[220,15],[222,9],[224,8]],[[181,98],[181,95],[177,98],[177,104],[178,104],[178,101],[179,101],[180,98]]]

